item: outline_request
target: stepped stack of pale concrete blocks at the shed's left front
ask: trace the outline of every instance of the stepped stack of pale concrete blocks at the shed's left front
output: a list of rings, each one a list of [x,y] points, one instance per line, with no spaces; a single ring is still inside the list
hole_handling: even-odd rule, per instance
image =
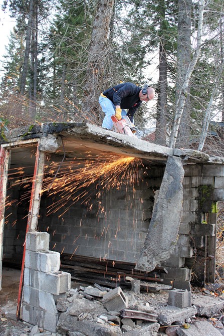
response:
[[[47,232],[29,232],[26,248],[21,317],[56,332],[55,301],[57,296],[70,290],[71,274],[59,271],[60,254],[49,251]]]

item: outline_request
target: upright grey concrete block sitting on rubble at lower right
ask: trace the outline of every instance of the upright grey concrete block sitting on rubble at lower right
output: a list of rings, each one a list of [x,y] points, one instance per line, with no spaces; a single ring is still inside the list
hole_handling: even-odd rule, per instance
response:
[[[169,291],[168,304],[171,306],[186,308],[191,306],[191,292],[182,289]]]

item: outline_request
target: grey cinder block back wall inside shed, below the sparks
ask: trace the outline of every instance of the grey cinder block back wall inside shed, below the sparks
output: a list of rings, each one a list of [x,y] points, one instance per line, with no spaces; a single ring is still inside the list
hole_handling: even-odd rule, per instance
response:
[[[51,202],[42,197],[38,230],[50,233],[54,251],[134,263],[145,240],[154,192],[161,185],[164,169],[149,166],[147,173],[147,177],[142,173],[134,188],[104,191],[99,199],[92,195],[91,211],[79,201],[62,218],[59,213],[46,216]]]

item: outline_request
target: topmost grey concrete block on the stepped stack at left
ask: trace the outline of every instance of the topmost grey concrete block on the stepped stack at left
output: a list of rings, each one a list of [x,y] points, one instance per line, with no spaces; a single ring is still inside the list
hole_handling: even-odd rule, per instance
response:
[[[49,251],[50,235],[47,232],[28,232],[26,249],[29,251]]]

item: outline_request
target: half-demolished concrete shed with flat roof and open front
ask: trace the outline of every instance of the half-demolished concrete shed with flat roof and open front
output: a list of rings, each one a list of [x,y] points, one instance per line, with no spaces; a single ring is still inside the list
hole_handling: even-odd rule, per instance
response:
[[[47,123],[2,134],[0,159],[0,281],[2,263],[21,265],[24,320],[55,332],[54,302],[71,281],[65,255],[148,277],[163,269],[162,283],[179,289],[190,290],[192,273],[214,282],[222,157]]]

